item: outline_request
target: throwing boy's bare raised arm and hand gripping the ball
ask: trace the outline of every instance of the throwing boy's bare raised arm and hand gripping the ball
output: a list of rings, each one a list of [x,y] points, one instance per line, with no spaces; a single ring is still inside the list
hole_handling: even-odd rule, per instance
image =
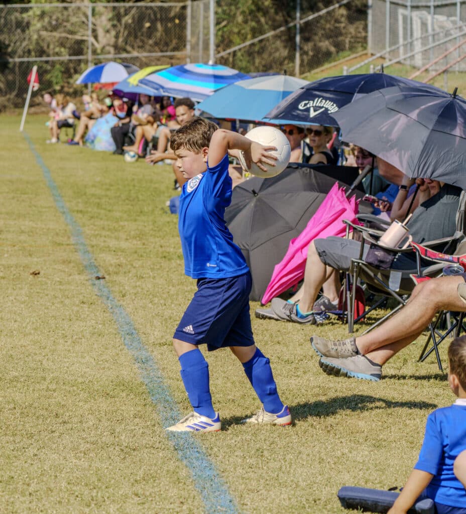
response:
[[[249,168],[251,162],[255,162],[257,166],[267,171],[264,164],[275,166],[274,161],[277,158],[268,153],[270,150],[276,150],[275,146],[263,146],[262,144],[251,141],[247,137],[219,128],[212,135],[209,145],[209,168],[213,168],[228,153],[228,150],[241,150],[244,152],[244,160]]]

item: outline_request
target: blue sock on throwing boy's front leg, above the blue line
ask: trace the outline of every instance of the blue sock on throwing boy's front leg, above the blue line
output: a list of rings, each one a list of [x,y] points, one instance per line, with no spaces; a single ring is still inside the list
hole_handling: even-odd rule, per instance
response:
[[[183,380],[189,401],[194,412],[214,419],[217,413],[213,410],[209,387],[209,365],[199,348],[186,352],[178,358],[181,364]]]

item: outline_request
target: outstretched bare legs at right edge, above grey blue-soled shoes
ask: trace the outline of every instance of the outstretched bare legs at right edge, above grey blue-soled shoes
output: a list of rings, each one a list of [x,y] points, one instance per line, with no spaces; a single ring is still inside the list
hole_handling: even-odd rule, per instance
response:
[[[440,277],[418,284],[409,302],[385,323],[364,336],[356,337],[360,353],[384,364],[419,337],[440,310],[466,310],[458,297],[462,277]]]

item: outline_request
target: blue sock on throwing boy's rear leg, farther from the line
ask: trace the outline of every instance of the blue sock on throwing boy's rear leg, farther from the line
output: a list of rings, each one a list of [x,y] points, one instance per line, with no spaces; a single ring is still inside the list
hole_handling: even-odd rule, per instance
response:
[[[264,357],[259,348],[256,348],[252,359],[243,362],[243,368],[264,409],[272,413],[281,412],[283,403],[277,393],[270,361]]]

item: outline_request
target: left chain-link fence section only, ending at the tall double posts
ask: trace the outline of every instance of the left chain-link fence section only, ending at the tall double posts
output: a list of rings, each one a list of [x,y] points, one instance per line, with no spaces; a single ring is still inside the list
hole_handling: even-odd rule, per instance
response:
[[[186,62],[188,3],[30,4],[0,7],[0,96],[24,103],[38,65],[41,90],[82,93],[89,66],[116,60],[139,68]]]

